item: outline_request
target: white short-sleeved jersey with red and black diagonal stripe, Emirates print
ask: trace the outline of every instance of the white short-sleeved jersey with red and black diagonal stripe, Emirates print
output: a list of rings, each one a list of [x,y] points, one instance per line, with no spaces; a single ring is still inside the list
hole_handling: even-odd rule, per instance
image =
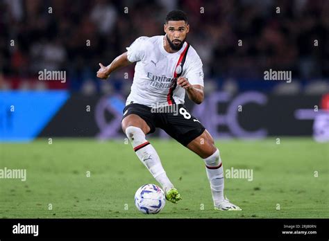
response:
[[[137,64],[126,105],[184,104],[185,89],[176,83],[179,75],[190,84],[203,86],[202,62],[194,48],[185,42],[178,52],[168,53],[163,46],[164,37],[139,37],[127,48],[128,60]]]

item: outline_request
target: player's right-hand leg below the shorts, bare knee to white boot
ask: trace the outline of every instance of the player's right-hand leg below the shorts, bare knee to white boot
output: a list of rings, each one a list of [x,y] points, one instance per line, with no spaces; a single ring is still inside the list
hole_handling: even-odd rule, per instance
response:
[[[205,130],[200,136],[188,143],[186,147],[198,154],[205,161],[205,170],[210,181],[214,208],[222,211],[242,210],[224,198],[223,166],[219,150],[214,145],[214,139],[212,139],[210,133]]]

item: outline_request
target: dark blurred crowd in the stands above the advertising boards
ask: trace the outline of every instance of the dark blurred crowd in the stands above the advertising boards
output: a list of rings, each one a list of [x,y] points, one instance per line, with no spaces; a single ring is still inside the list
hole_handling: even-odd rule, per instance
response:
[[[173,9],[187,12],[207,89],[328,91],[326,0],[3,0],[0,89],[126,94],[134,66],[101,81],[98,63],[110,64],[137,37],[163,35]],[[67,82],[37,81],[44,69],[67,71]],[[292,83],[264,81],[269,69],[292,71]]]

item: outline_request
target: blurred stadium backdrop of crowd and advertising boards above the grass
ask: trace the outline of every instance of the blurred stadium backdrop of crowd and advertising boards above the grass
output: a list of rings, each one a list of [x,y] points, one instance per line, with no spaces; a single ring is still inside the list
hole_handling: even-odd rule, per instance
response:
[[[122,134],[119,118],[134,66],[101,81],[98,63],[109,64],[139,36],[162,35],[165,15],[175,8],[189,16],[187,40],[205,72],[207,104],[187,105],[215,137],[312,135],[315,116],[329,108],[328,1],[5,0],[1,139]],[[38,80],[44,69],[65,71],[66,80]],[[269,69],[292,71],[292,82],[264,80]],[[29,109],[33,101],[35,113],[30,108],[13,116],[10,107]],[[248,111],[235,111],[240,104]]]

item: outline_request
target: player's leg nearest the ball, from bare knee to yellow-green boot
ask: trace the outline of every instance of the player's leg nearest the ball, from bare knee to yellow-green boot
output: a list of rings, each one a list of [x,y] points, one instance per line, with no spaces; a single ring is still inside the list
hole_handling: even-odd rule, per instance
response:
[[[140,114],[142,115],[142,114]],[[151,130],[151,127],[137,114],[128,114],[124,117],[121,123],[122,130],[126,133],[129,141],[133,145],[137,157],[142,161],[144,166],[151,172],[151,175],[158,181],[166,197],[169,190],[173,192],[174,185],[166,175],[162,167],[160,157],[153,146],[146,140],[146,134]],[[169,193],[171,195],[171,193]],[[175,195],[176,197],[177,195]],[[169,198],[171,202],[177,202],[179,199]]]

